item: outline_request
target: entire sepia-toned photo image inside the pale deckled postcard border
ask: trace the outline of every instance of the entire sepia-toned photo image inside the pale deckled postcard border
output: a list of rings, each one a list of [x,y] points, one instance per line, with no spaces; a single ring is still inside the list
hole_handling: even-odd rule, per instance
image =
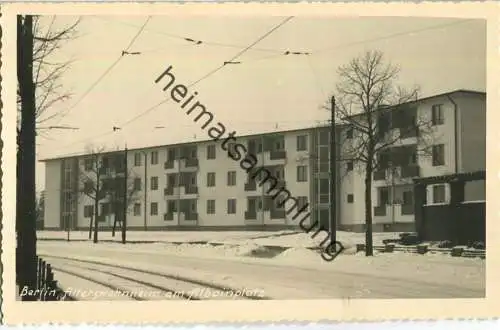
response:
[[[16,17],[17,301],[486,297],[486,19],[149,14]]]

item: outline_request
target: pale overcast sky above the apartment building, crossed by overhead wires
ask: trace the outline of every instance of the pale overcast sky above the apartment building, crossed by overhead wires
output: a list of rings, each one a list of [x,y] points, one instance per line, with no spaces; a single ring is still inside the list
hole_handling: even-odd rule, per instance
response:
[[[57,17],[55,26],[76,19]],[[90,143],[111,149],[125,143],[133,148],[206,139],[206,132],[175,102],[130,120],[168,97],[154,80],[169,65],[177,82],[189,85],[283,20],[153,16],[130,48],[141,54],[124,56],[82,98],[146,21],[146,17],[84,16],[79,37],[54,55],[54,60],[74,60],[63,81],[73,97],[50,112],[72,109],[60,122],[43,125],[79,129],[39,136],[39,159],[80,153]],[[282,55],[287,50],[311,55]],[[337,67],[366,50],[381,50],[387,61],[400,65],[400,84],[419,84],[423,97],[454,89],[486,90],[483,20],[296,17],[238,57],[241,64],[225,66],[189,92],[197,91],[197,100],[239,135],[313,126],[327,119],[319,107],[333,91]],[[122,130],[108,133],[127,122]],[[44,174],[39,164],[38,189],[43,189]]]

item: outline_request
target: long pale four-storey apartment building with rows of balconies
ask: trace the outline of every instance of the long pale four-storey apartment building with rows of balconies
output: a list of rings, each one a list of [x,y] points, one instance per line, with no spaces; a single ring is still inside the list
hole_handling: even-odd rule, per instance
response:
[[[485,93],[457,90],[405,104],[403,109],[404,116],[397,114],[401,111],[389,111],[381,112],[392,113],[389,118],[378,118],[379,128],[385,127],[379,129],[381,134],[404,136],[378,155],[381,166],[372,181],[374,230],[414,230],[412,178],[484,170],[486,166]],[[404,118],[415,117],[429,119],[428,154],[418,151],[421,132],[402,129],[407,124]],[[338,125],[336,136],[342,154],[343,146],[356,139],[356,132],[349,125]],[[252,180],[254,172],[247,173],[243,161],[231,157],[231,153],[238,153],[237,146],[229,143],[225,150],[222,141],[207,140],[128,150],[128,185],[135,190],[128,206],[128,227],[273,229],[296,227],[303,218],[328,224],[329,127],[239,136],[237,143],[275,178],[276,189],[286,188],[295,198],[293,212],[281,205],[283,198],[273,200],[268,185],[262,184],[262,173]],[[122,173],[123,156],[123,151],[99,155],[100,164],[106,164],[103,178]],[[46,229],[88,228],[95,204],[81,193],[82,175],[88,177],[91,168],[88,159],[89,155],[81,155],[43,160]],[[119,165],[115,171],[108,164]],[[358,165],[348,160],[337,162],[335,210],[339,229],[363,230],[365,183]],[[427,200],[445,203],[448,191],[446,186],[431,186]],[[468,187],[466,195],[468,199],[484,199],[484,183]],[[109,199],[99,204],[101,227],[111,227],[115,216],[122,217],[123,206],[113,206]]]

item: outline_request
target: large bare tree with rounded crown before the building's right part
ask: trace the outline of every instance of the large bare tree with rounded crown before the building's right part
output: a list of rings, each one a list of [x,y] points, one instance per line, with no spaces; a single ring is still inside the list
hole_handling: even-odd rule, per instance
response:
[[[398,86],[399,71],[398,66],[384,62],[380,51],[367,51],[338,69],[335,113],[349,136],[342,143],[338,160],[352,162],[364,174],[367,256],[373,255],[374,173],[416,162],[407,158],[427,153],[429,148],[430,120],[412,107],[419,88]],[[416,139],[411,147],[402,144],[407,138]],[[395,147],[401,152],[392,152]]]

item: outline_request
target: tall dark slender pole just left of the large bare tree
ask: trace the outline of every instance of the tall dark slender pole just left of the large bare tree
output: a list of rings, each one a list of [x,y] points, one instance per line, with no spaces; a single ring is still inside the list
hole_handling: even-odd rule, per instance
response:
[[[330,123],[330,244],[335,252],[337,242],[337,214],[335,203],[337,202],[337,141],[335,132],[335,96],[331,99],[331,123]]]

